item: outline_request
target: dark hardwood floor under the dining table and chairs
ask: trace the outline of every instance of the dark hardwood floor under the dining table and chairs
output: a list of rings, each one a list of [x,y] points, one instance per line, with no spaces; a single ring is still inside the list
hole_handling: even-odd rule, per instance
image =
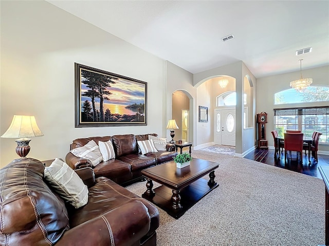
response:
[[[281,153],[281,152],[280,152]],[[308,165],[308,156],[303,152],[303,165],[296,161],[296,152],[292,153],[293,158],[287,159],[287,163],[284,163],[284,151],[281,153],[280,158],[274,158],[274,150],[260,150],[255,149],[253,152],[247,154],[244,158],[255,160],[258,162],[266,163],[267,165],[288,169],[294,172],[303,173],[309,176],[321,178],[318,167],[329,166],[329,155],[318,154],[319,162],[315,162],[314,158],[310,157],[310,165]]]

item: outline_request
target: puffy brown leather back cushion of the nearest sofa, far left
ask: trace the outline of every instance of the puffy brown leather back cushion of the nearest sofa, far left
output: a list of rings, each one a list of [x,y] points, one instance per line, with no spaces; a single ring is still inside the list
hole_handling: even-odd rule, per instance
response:
[[[52,245],[69,229],[64,201],[43,181],[44,168],[21,158],[0,170],[0,244]]]

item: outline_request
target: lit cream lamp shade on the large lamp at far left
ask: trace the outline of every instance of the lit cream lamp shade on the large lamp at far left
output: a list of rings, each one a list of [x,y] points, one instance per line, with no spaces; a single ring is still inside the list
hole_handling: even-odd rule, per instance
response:
[[[36,125],[34,116],[14,115],[8,130],[1,137],[28,138],[40,136],[43,136],[43,133]]]

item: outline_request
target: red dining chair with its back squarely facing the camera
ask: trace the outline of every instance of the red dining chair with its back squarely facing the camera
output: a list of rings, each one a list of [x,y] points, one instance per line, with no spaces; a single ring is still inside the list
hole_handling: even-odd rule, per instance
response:
[[[300,155],[300,161],[303,163],[303,133],[284,133],[284,162],[286,162],[287,151],[296,151],[297,160],[298,153]],[[291,158],[291,154],[290,154]]]

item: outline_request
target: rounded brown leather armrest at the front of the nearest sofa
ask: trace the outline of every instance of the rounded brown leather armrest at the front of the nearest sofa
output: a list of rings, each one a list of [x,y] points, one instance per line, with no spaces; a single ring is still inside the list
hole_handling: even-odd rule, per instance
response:
[[[149,228],[147,208],[141,201],[132,200],[66,231],[56,246],[135,245]]]

